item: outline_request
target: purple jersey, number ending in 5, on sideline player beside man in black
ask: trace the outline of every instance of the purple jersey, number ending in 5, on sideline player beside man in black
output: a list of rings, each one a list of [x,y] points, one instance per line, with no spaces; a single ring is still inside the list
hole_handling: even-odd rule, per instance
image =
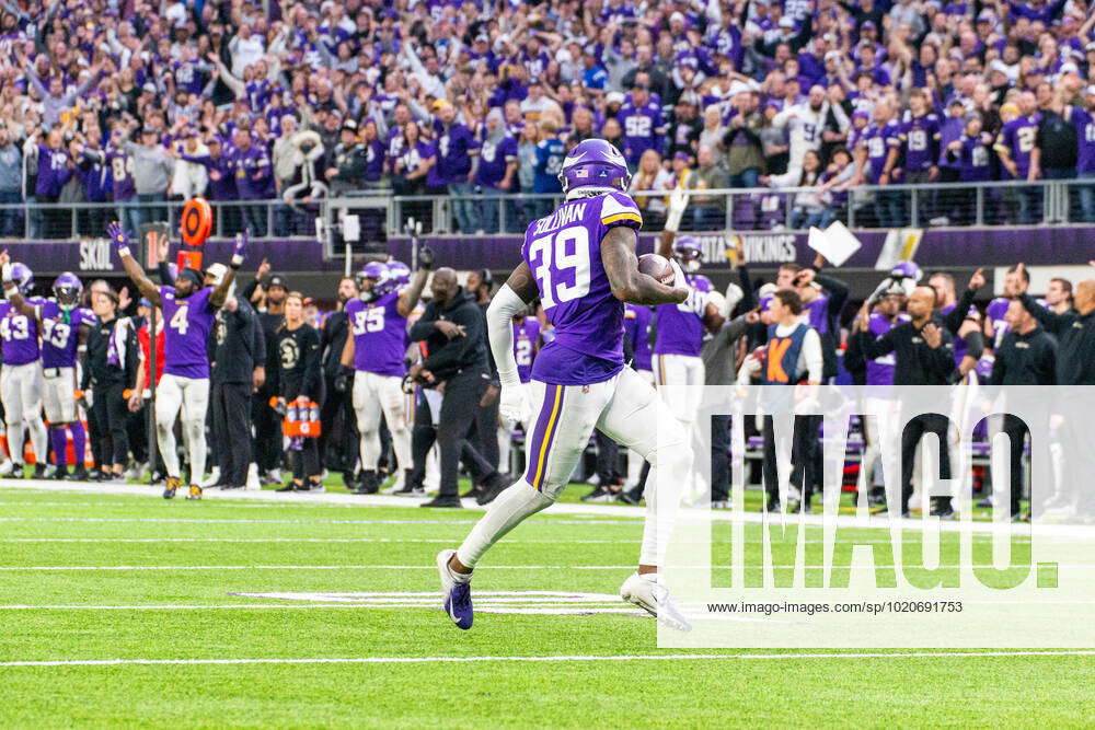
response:
[[[407,318],[400,314],[399,302],[397,291],[371,302],[346,302],[346,316],[354,328],[355,370],[400,378],[406,374]]]

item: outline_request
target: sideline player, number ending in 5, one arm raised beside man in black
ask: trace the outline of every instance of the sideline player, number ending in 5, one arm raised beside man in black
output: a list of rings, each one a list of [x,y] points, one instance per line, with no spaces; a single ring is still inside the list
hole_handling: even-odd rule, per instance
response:
[[[403,489],[411,490],[411,429],[403,397],[406,375],[404,355],[407,348],[407,315],[422,297],[426,277],[434,262],[428,248],[419,252],[419,269],[411,285],[400,288],[384,264],[371,263],[358,275],[360,297],[346,302],[346,317],[351,336],[346,338],[342,373],[335,387],[346,389],[354,378],[354,412],[361,443],[361,482],[358,494],[374,494],[380,488],[377,462],[380,461],[380,414],[383,412],[392,434],[395,460],[403,471]],[[404,269],[405,270],[405,269]],[[353,367],[353,370],[350,368]]]

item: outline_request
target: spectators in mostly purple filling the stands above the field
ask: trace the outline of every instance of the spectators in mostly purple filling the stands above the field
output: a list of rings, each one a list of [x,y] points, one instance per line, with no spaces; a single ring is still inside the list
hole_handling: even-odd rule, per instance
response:
[[[499,220],[499,199],[558,193],[590,137],[635,192],[762,188],[736,228],[844,218],[863,184],[1095,178],[1084,0],[21,0],[0,33],[0,202],[145,204],[129,231],[204,194],[237,201],[227,234],[285,235],[323,196],[391,190],[457,196],[462,233],[519,232],[551,202]],[[1070,193],[1095,221],[1095,183]],[[971,195],[920,220],[971,222]],[[1040,220],[1038,189],[993,196],[989,222]],[[639,202],[657,228],[661,196]],[[725,224],[723,197],[694,204],[693,229]],[[861,225],[910,219],[899,193],[860,205]],[[68,212],[30,218],[31,239],[69,234]]]

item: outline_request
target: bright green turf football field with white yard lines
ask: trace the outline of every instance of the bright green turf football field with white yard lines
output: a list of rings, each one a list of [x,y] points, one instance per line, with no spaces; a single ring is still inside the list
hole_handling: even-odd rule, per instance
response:
[[[615,598],[642,531],[618,512],[515,530],[476,571],[481,611],[460,631],[436,609],[434,556],[472,510],[0,486],[0,726],[1095,717],[1087,654],[659,650],[654,621]]]

